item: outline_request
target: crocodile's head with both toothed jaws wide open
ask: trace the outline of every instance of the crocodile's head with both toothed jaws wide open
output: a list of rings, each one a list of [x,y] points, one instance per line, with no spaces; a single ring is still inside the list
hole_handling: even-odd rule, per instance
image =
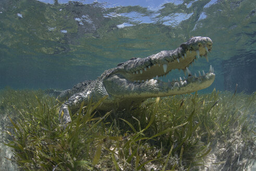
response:
[[[101,76],[109,95],[118,98],[148,98],[185,94],[209,87],[215,78],[213,68],[208,73],[192,75],[188,67],[197,58],[205,57],[212,50],[212,40],[193,37],[176,50],[162,51],[146,58],[132,58],[106,70]],[[174,69],[184,70],[188,77],[163,82],[159,79]],[[155,78],[155,79],[154,79]]]

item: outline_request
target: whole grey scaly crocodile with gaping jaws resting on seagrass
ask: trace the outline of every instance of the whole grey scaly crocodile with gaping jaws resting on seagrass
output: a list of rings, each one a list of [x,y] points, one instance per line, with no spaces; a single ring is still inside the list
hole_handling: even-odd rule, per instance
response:
[[[149,97],[170,96],[198,91],[209,87],[215,78],[213,68],[205,74],[192,75],[189,65],[197,58],[212,50],[212,40],[207,37],[192,37],[176,50],[161,51],[146,58],[131,58],[115,68],[105,70],[96,80],[84,81],[74,88],[62,92],[59,100],[67,99],[60,107],[59,119],[63,123],[71,121],[70,113],[76,113],[81,104],[87,105],[89,99],[97,102],[107,95],[99,111],[129,109]],[[173,69],[182,69],[187,78],[163,82],[159,77]],[[155,79],[154,79],[155,77]]]

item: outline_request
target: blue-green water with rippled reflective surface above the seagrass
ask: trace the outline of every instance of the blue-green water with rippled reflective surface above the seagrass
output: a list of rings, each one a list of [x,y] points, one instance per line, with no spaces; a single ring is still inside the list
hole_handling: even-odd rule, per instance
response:
[[[139,3],[140,2],[140,3]],[[50,3],[50,4],[47,4]],[[203,92],[255,91],[255,2],[1,1],[0,88],[67,89],[131,57],[209,36],[215,82]],[[183,77],[172,71],[170,78]]]

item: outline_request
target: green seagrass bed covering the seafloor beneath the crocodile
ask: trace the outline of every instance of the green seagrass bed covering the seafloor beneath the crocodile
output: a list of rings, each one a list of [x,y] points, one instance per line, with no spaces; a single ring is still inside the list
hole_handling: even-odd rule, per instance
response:
[[[162,97],[129,114],[102,116],[95,112],[100,102],[90,103],[66,128],[58,121],[62,102],[43,91],[0,94],[1,114],[10,120],[9,160],[21,170],[231,169],[246,167],[242,157],[253,158],[255,93]]]

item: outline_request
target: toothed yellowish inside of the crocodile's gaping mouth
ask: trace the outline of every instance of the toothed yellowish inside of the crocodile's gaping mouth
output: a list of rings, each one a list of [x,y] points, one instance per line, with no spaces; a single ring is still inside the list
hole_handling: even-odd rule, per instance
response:
[[[147,82],[149,80],[159,80],[161,77],[166,76],[174,69],[183,70],[185,78],[177,78],[168,82],[177,82],[177,81],[186,81],[188,79],[197,79],[205,77],[208,74],[214,74],[214,69],[210,66],[209,72],[205,74],[204,70],[202,72],[198,71],[197,73],[192,74],[188,69],[198,58],[205,58],[208,62],[208,53],[212,50],[212,42],[202,42],[198,43],[196,46],[190,46],[189,48],[182,49],[182,45],[174,51],[162,51],[158,54],[147,57],[147,62],[143,63],[142,66],[136,67],[140,69],[131,69],[126,78],[135,83]],[[175,52],[177,51],[177,52]],[[163,54],[165,53],[165,54]],[[169,54],[172,55],[169,55]],[[158,56],[164,56],[159,58]],[[143,68],[142,68],[143,67]]]

